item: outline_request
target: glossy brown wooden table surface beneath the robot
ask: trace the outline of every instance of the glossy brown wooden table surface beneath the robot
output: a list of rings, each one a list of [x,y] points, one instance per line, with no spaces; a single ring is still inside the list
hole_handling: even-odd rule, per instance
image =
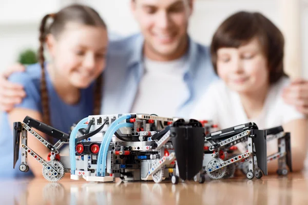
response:
[[[0,204],[308,204],[308,171],[172,183],[1,179]]]

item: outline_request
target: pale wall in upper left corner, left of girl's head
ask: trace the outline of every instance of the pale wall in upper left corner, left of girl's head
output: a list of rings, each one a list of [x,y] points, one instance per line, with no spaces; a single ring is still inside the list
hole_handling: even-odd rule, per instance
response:
[[[2,0],[0,6],[0,72],[13,64],[23,49],[38,48],[38,27],[47,13],[70,2],[64,0]]]

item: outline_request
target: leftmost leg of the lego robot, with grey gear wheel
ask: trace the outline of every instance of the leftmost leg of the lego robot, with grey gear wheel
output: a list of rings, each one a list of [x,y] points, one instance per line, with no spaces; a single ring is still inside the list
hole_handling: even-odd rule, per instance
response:
[[[34,129],[41,131],[48,136],[51,136],[58,141],[52,145],[50,142],[45,140],[40,134],[35,132]],[[39,140],[45,147],[50,150],[47,156],[48,161],[44,160],[41,156],[37,155],[31,148],[27,146],[28,132],[31,133],[37,140]],[[43,176],[48,181],[60,180],[65,172],[69,172],[69,157],[60,156],[60,148],[68,143],[69,135],[52,128],[43,122],[37,121],[29,116],[25,117],[23,122],[14,122],[13,124],[13,137],[14,137],[14,163],[15,168],[16,162],[19,158],[20,143],[21,143],[21,165],[19,166],[20,171],[28,172],[29,167],[27,165],[27,157],[31,156],[41,163],[43,170]]]

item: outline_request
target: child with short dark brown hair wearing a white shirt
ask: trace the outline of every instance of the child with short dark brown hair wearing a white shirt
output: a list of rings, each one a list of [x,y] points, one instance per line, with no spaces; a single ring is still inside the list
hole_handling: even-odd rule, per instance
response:
[[[216,30],[211,60],[220,79],[208,88],[191,117],[213,119],[220,129],[255,122],[259,129],[283,126],[291,132],[293,170],[301,170],[306,155],[306,119],[284,103],[281,92],[290,80],[283,72],[284,39],[260,13],[238,12]],[[240,148],[240,146],[239,146]],[[277,141],[267,144],[277,151]],[[277,161],[268,172],[277,170]]]

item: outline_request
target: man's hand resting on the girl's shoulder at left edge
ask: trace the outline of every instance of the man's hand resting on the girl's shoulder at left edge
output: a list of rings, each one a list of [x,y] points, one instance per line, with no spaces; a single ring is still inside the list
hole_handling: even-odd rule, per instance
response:
[[[22,85],[11,83],[7,80],[12,73],[23,71],[25,71],[23,65],[15,64],[0,74],[0,111],[11,111],[14,105],[21,103],[26,96]]]

